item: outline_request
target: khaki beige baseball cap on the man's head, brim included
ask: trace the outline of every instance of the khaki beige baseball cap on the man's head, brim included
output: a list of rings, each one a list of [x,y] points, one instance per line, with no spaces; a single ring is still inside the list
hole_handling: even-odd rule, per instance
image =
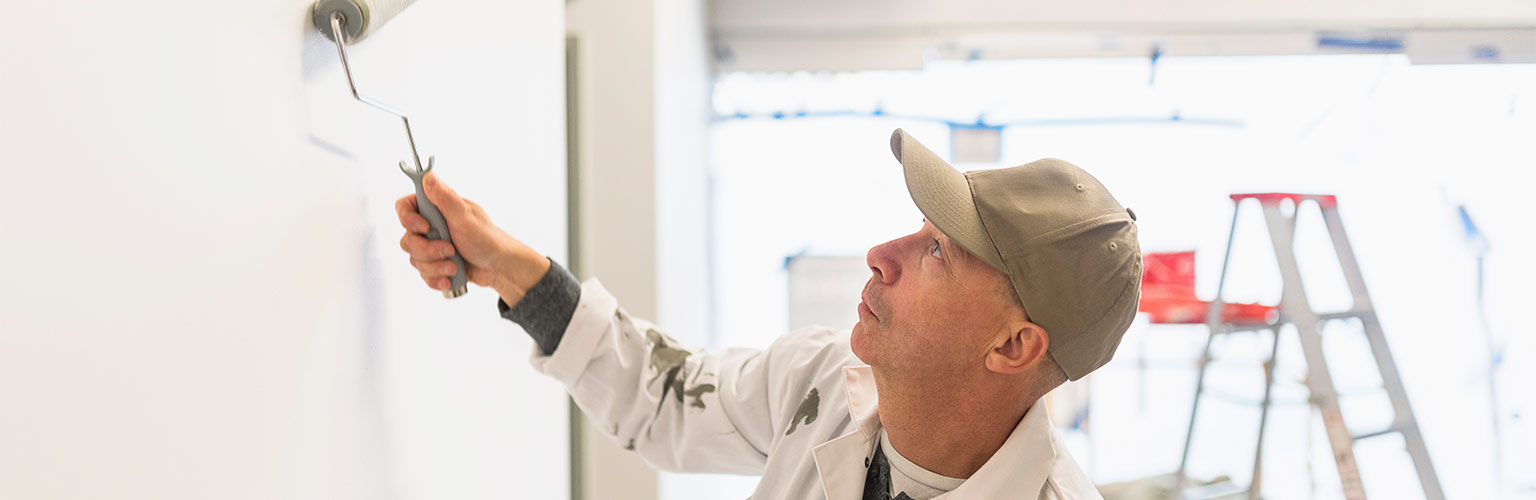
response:
[[[1115,356],[1141,298],[1141,245],[1104,184],[1054,158],[960,173],[902,129],[891,152],[928,221],[1008,275],[1068,379]]]

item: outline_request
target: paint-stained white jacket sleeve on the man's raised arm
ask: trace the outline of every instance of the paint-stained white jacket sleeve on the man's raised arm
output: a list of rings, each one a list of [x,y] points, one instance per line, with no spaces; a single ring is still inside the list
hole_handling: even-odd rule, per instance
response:
[[[531,362],[565,383],[604,434],[659,469],[762,474],[823,376],[816,362],[796,362],[808,348],[833,351],[794,334],[768,350],[690,350],[588,279],[559,348],[535,350]]]

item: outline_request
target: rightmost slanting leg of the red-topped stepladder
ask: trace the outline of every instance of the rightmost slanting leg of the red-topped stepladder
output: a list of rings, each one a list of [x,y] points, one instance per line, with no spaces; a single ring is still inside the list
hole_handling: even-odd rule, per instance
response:
[[[1381,322],[1376,319],[1370,293],[1366,291],[1366,278],[1359,271],[1359,262],[1355,259],[1355,250],[1349,244],[1349,235],[1344,233],[1344,221],[1339,218],[1338,207],[1322,207],[1322,221],[1329,227],[1333,252],[1338,253],[1339,267],[1344,270],[1350,293],[1355,296],[1355,313],[1359,314],[1366,339],[1370,342],[1372,356],[1376,357],[1381,383],[1392,400],[1392,410],[1396,414],[1393,429],[1402,434],[1409,457],[1413,459],[1413,468],[1419,475],[1419,485],[1424,488],[1424,498],[1442,500],[1445,498],[1445,492],[1441,489],[1439,477],[1435,474],[1435,465],[1430,462],[1424,436],[1419,434],[1418,420],[1413,417],[1413,408],[1409,405],[1409,393],[1402,388],[1398,363],[1392,359],[1392,350],[1387,347],[1387,336],[1381,331]]]

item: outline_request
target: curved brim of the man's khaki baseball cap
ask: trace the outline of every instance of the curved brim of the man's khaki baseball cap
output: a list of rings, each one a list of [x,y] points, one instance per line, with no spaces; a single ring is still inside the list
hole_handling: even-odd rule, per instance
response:
[[[891,132],[891,153],[902,163],[906,192],[912,195],[917,210],[922,210],[945,236],[1006,275],[1003,258],[998,256],[997,245],[992,244],[982,216],[975,212],[971,183],[965,173],[902,129]]]

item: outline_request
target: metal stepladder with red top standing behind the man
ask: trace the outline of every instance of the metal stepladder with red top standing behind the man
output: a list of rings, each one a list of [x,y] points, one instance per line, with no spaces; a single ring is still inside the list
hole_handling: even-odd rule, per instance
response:
[[[1338,213],[1338,199],[1333,195],[1296,193],[1247,193],[1232,195],[1230,198],[1233,202],[1232,229],[1227,236],[1226,256],[1221,262],[1221,278],[1217,282],[1217,298],[1206,310],[1206,325],[1209,327],[1210,334],[1206,339],[1204,353],[1200,356],[1200,374],[1195,379],[1195,402],[1189,413],[1189,429],[1184,434],[1184,451],[1178,465],[1177,488],[1183,488],[1186,480],[1184,468],[1189,463],[1189,448],[1195,431],[1195,416],[1200,410],[1201,393],[1204,391],[1206,365],[1210,362],[1210,340],[1224,333],[1269,330],[1273,333],[1275,345],[1270,347],[1270,356],[1264,362],[1266,385],[1264,399],[1260,403],[1260,431],[1253,457],[1253,480],[1247,488],[1247,497],[1258,498],[1261,479],[1260,465],[1264,454],[1264,420],[1269,416],[1270,387],[1275,385],[1275,353],[1278,353],[1281,327],[1290,324],[1299,336],[1301,350],[1307,360],[1307,388],[1310,391],[1309,402],[1322,414],[1322,425],[1327,431],[1329,446],[1333,451],[1335,465],[1338,465],[1339,480],[1344,486],[1344,497],[1349,500],[1366,498],[1366,489],[1359,479],[1359,468],[1355,465],[1355,440],[1396,433],[1402,436],[1407,452],[1413,459],[1413,468],[1416,469],[1419,485],[1424,489],[1424,498],[1444,500],[1445,494],[1441,491],[1439,479],[1435,475],[1435,466],[1430,463],[1428,449],[1424,446],[1424,436],[1419,434],[1419,425],[1413,419],[1413,410],[1409,406],[1409,396],[1402,390],[1402,379],[1398,376],[1398,365],[1392,360],[1392,351],[1387,348],[1387,337],[1381,333],[1381,322],[1376,319],[1376,310],[1370,302],[1370,294],[1366,291],[1366,281],[1359,273],[1359,264],[1355,261],[1355,252],[1349,244],[1349,238],[1344,235],[1344,222],[1339,219]],[[1278,307],[1279,314],[1273,316],[1273,321],[1266,322],[1233,319],[1230,310],[1223,304],[1227,270],[1232,264],[1232,242],[1233,236],[1236,236],[1238,215],[1241,213],[1244,201],[1249,199],[1256,201],[1264,212],[1264,221],[1269,225],[1269,236],[1275,247],[1275,258],[1278,261],[1276,264],[1279,264],[1279,275],[1284,287]],[[1333,250],[1338,253],[1339,268],[1344,271],[1349,290],[1355,299],[1355,305],[1350,310],[1318,313],[1313,311],[1310,302],[1307,302],[1307,291],[1303,288],[1301,270],[1296,265],[1293,245],[1296,215],[1301,213],[1303,202],[1315,202],[1322,212],[1322,221],[1327,225]],[[1293,210],[1286,213],[1287,210],[1284,206],[1293,207]],[[1226,314],[1223,314],[1224,311]],[[1339,410],[1333,377],[1329,374],[1329,365],[1322,354],[1322,324],[1349,319],[1358,321],[1362,327],[1366,339],[1370,342],[1372,354],[1376,359],[1376,368],[1381,371],[1384,390],[1392,400],[1392,410],[1395,413],[1393,423],[1381,431],[1352,434],[1344,425],[1344,414]]]

